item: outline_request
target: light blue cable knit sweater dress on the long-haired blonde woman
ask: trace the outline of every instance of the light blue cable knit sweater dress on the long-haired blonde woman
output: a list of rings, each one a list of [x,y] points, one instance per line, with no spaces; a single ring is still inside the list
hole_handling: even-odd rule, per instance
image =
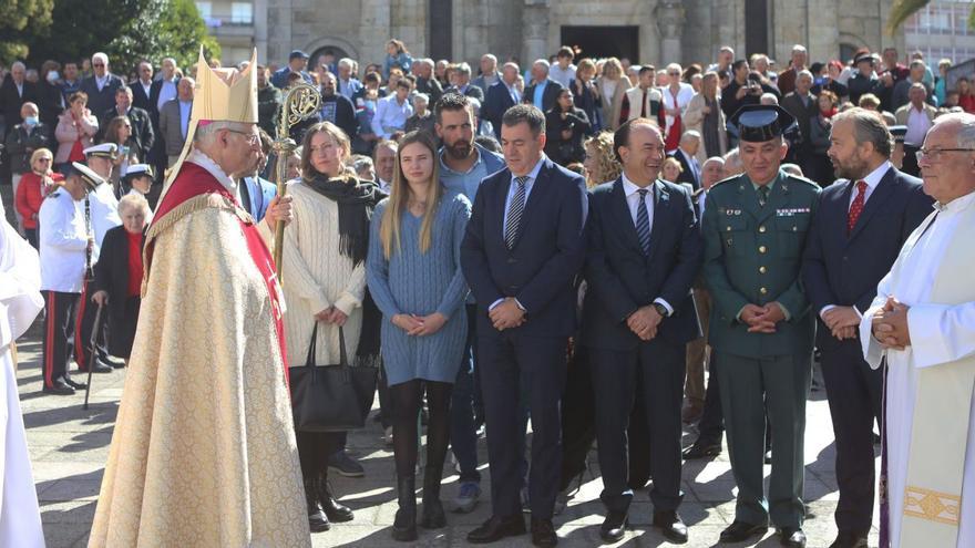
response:
[[[445,194],[433,211],[432,240],[420,252],[422,218],[409,211],[400,220],[400,249],[393,246],[389,259],[382,251],[379,227],[389,199],[376,207],[369,237],[367,279],[376,306],[382,311],[382,362],[390,385],[413,379],[453,383],[460,369],[468,318],[463,302],[468,282],[461,271],[460,246],[471,203],[462,194]],[[393,325],[396,314],[448,318],[440,331],[411,337]]]

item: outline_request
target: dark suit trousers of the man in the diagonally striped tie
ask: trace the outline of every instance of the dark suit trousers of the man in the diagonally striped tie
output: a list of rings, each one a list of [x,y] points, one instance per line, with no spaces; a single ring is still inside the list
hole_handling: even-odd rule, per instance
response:
[[[510,331],[479,334],[478,363],[484,394],[494,516],[517,516],[522,511],[525,422],[519,399],[524,393],[532,413],[528,472],[532,516],[552,518],[562,471],[561,400],[567,343],[567,338],[533,338]]]

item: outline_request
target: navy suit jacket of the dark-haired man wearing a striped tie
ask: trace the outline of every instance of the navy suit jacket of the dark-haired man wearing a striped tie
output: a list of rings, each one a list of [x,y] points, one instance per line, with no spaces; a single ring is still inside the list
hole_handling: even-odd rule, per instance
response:
[[[503,235],[510,187],[507,167],[484,178],[461,244],[461,267],[478,300],[478,334],[499,334],[488,309],[514,297],[526,316],[510,331],[568,337],[576,327],[575,282],[585,259],[585,179],[543,158],[511,250]]]

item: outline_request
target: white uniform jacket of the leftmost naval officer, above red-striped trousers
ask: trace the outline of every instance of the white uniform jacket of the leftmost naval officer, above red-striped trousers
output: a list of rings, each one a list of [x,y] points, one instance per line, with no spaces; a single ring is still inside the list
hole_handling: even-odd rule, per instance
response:
[[[88,247],[83,207],[63,188],[51,193],[41,204],[38,239],[42,290],[81,293]]]

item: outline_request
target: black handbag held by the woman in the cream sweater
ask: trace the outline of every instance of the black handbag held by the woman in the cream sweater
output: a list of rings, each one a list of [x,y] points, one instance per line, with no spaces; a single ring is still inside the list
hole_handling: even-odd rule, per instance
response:
[[[304,366],[288,368],[291,413],[297,432],[346,432],[361,428],[376,393],[376,368],[350,368],[339,328],[339,363],[317,365],[318,322],[311,331]]]

